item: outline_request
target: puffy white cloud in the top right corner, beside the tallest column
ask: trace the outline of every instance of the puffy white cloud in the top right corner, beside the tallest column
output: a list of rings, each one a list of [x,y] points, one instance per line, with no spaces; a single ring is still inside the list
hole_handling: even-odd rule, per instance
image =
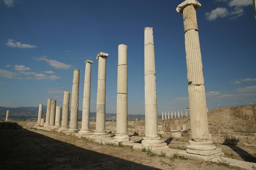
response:
[[[218,7],[211,12],[205,13],[207,20],[214,21],[218,17],[237,19],[244,15],[244,7],[252,5],[252,0],[215,0],[214,2],[225,2],[227,7]]]

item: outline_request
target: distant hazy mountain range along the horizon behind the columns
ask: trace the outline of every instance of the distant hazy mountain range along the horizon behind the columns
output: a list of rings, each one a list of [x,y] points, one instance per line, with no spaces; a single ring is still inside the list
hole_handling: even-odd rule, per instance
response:
[[[43,107],[43,118],[46,115],[46,106]],[[11,120],[37,120],[38,107],[0,107],[0,119],[5,119],[6,111],[10,109],[9,119]],[[145,120],[145,115],[130,115],[128,114],[128,120]],[[160,117],[159,117],[160,118]],[[106,121],[117,120],[117,114],[106,113]],[[78,112],[78,120],[82,120],[82,111]],[[96,120],[96,112],[90,112],[90,120]]]

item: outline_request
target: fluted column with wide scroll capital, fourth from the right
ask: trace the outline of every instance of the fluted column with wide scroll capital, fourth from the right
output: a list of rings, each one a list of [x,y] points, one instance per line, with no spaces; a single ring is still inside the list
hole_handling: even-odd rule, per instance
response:
[[[96,59],[99,60],[98,65],[98,89],[97,89],[97,113],[96,113],[96,129],[94,137],[109,137],[105,130],[105,111],[106,111],[106,62],[108,53],[99,52]]]

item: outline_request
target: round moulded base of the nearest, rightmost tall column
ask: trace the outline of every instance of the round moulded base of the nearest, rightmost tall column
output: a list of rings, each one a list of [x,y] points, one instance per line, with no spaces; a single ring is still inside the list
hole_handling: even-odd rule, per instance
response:
[[[196,155],[210,156],[217,153],[221,153],[221,148],[216,148],[211,141],[207,142],[195,142],[190,140],[189,144],[186,145],[186,152]]]

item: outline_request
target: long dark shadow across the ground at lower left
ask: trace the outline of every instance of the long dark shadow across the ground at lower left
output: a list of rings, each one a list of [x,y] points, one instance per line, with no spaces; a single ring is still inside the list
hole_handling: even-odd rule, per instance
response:
[[[0,169],[157,170],[25,129],[0,130]]]

